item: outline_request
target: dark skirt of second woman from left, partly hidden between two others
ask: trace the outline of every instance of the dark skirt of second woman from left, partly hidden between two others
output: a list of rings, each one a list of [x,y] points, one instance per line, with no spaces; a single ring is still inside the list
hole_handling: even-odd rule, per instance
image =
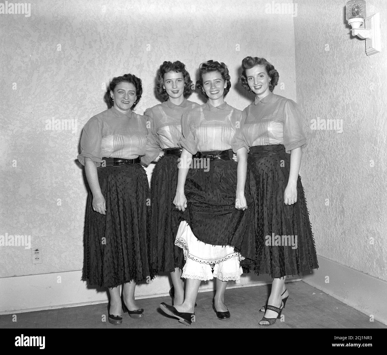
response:
[[[176,229],[182,214],[173,199],[176,194],[178,157],[163,155],[151,179],[151,262],[155,273],[182,269],[183,249],[175,246]]]

